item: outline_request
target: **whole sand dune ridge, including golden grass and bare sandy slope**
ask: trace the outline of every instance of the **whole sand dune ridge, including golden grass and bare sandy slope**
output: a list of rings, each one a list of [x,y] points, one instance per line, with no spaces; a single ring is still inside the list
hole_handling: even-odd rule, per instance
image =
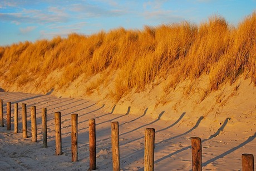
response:
[[[113,29],[90,36],[19,42],[0,47],[0,87],[6,92],[89,98],[116,113],[169,120],[225,116],[234,103],[255,112],[256,12],[237,27],[211,16],[142,30]],[[246,97],[246,98],[245,98]],[[230,104],[230,105],[229,105]],[[243,103],[244,104],[244,103]],[[227,112],[228,113],[228,112]],[[219,116],[220,117],[220,116]]]

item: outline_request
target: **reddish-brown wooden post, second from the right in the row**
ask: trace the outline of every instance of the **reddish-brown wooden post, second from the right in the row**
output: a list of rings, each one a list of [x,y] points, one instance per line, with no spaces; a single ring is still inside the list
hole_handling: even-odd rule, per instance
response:
[[[191,138],[191,149],[192,149],[192,165],[193,171],[202,170],[202,147],[201,139],[199,137]]]

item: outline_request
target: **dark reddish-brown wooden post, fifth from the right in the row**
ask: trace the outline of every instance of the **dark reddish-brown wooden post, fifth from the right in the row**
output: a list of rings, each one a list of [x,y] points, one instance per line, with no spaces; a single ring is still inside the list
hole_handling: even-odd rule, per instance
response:
[[[89,119],[90,169],[96,169],[96,129],[95,119]]]

